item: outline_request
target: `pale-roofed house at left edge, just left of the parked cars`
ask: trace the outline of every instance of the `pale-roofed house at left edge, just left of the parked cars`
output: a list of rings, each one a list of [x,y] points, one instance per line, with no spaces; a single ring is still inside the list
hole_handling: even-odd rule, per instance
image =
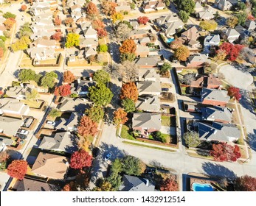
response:
[[[21,118],[0,116],[0,133],[15,136],[23,123]]]

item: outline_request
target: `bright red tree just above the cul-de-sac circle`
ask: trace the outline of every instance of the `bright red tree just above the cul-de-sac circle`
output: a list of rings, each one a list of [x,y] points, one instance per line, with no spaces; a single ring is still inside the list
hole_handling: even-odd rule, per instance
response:
[[[243,49],[243,45],[233,45],[232,43],[225,42],[221,44],[220,49],[226,52],[226,55],[230,61],[235,61],[240,51]]]

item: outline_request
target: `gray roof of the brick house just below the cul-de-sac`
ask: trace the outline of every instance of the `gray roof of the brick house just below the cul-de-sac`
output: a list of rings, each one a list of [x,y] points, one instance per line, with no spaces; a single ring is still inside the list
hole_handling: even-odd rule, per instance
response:
[[[227,95],[226,90],[215,90],[215,89],[203,88],[201,99],[202,101],[204,99],[207,99],[207,100],[213,100],[218,102],[229,102],[230,98]]]

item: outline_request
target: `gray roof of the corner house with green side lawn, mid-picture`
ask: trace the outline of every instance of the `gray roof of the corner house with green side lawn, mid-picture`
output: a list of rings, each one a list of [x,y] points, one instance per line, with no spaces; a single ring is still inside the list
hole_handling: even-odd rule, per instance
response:
[[[161,129],[161,115],[157,113],[134,113],[133,128]]]

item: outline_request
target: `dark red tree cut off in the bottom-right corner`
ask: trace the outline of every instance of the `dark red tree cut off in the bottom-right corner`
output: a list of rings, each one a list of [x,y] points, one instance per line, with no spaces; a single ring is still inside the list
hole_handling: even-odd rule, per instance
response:
[[[234,185],[235,191],[256,191],[256,178],[249,175],[237,177]]]

